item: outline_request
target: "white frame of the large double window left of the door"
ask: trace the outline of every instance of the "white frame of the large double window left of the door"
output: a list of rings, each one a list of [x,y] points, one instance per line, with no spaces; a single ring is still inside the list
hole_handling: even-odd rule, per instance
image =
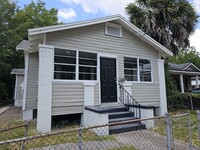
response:
[[[58,47],[55,47],[55,49],[57,49]],[[59,47],[60,48],[60,47]],[[58,48],[58,49],[59,49]],[[88,51],[84,51],[84,50],[74,50],[74,49],[70,49],[70,48],[60,48],[60,49],[64,49],[64,50],[71,50],[71,51],[76,51],[76,64],[75,64],[75,79],[53,79],[54,81],[69,81],[69,82],[97,82],[98,81],[98,53],[95,53],[97,55],[97,66],[96,66],[96,80],[79,80],[79,52],[85,52],[85,53],[93,53],[93,52],[88,52]],[[55,57],[55,53],[54,53],[54,57]],[[54,65],[58,64],[54,62]],[[55,70],[54,70],[55,72]]]

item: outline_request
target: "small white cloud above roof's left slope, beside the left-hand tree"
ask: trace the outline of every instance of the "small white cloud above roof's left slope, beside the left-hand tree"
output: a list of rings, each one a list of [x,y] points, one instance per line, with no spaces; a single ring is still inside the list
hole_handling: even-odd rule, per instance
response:
[[[58,10],[58,17],[63,18],[63,19],[70,19],[73,17],[76,17],[76,12],[72,9],[60,9]]]

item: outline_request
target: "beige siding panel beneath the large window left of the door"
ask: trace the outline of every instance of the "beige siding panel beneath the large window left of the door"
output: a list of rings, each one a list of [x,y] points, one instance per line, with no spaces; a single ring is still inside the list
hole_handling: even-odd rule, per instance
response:
[[[52,115],[82,113],[83,83],[53,81]]]

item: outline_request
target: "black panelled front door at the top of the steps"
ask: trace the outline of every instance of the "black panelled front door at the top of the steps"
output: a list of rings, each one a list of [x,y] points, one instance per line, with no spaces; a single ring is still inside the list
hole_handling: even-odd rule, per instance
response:
[[[116,59],[100,58],[101,102],[117,102]]]

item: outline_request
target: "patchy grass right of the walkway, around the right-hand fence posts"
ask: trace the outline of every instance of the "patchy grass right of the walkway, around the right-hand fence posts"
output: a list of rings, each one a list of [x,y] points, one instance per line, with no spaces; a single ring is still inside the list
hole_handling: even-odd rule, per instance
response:
[[[178,115],[187,112],[188,110],[186,109],[170,110],[171,115]],[[190,111],[190,122],[191,122],[190,126],[192,133],[192,144],[200,146],[198,140],[197,115],[195,111]],[[172,117],[172,126],[173,126],[174,139],[189,143],[188,116]],[[162,135],[166,135],[165,130],[166,130],[165,119],[158,120],[155,131],[159,132]]]

